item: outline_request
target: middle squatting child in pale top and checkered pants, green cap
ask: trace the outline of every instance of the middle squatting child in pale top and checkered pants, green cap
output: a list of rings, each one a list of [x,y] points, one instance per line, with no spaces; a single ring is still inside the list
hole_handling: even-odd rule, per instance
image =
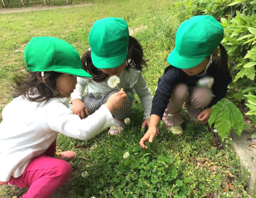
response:
[[[143,49],[135,38],[129,36],[126,21],[115,17],[95,21],[89,33],[89,45],[91,49],[81,59],[84,70],[93,79],[77,78],[77,85],[71,94],[73,113],[81,119],[86,114],[93,114],[118,91],[117,87],[107,84],[109,78],[117,76],[120,79],[117,86],[124,88],[128,100],[113,114],[115,127],[109,129],[109,134],[117,134],[117,128],[124,126],[123,120],[131,113],[134,92],[141,99],[144,109],[142,126],[145,128],[149,124],[153,96],[141,74],[143,66],[147,66],[143,60]],[[82,96],[84,90],[85,95]]]

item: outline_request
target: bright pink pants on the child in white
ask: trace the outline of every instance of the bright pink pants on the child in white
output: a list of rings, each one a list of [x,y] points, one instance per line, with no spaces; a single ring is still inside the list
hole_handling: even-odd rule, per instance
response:
[[[11,177],[9,183],[17,187],[28,187],[25,197],[51,197],[51,195],[65,184],[71,176],[71,165],[62,159],[53,158],[56,151],[56,140],[42,155],[29,161],[20,177]]]

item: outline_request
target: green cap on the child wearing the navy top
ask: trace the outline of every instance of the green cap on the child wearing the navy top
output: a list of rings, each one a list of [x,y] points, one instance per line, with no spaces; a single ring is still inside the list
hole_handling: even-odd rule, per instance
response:
[[[224,36],[221,24],[209,15],[184,21],[176,33],[175,48],[169,54],[169,64],[177,68],[192,68],[210,56]]]

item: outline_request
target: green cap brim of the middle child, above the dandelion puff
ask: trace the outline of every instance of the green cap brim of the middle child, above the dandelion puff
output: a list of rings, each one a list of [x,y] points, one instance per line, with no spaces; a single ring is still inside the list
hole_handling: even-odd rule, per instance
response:
[[[99,57],[93,51],[91,51],[91,60],[93,61],[93,65],[97,68],[115,68],[120,66],[125,62],[127,58],[127,51],[113,57]]]

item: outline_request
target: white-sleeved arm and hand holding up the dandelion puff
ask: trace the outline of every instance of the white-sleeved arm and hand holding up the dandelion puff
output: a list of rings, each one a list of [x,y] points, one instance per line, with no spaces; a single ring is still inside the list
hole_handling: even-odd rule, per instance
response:
[[[83,120],[67,110],[60,100],[53,100],[45,109],[47,129],[71,138],[89,140],[114,125],[112,114],[125,104],[127,95],[123,89],[113,94],[106,104]]]

